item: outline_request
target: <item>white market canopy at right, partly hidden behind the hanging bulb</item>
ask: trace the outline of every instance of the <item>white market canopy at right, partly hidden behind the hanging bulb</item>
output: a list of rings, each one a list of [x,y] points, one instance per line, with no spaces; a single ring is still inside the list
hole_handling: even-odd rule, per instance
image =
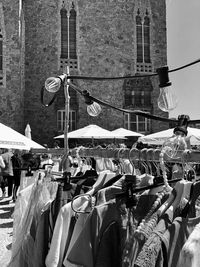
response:
[[[191,145],[200,145],[200,129],[187,127],[187,138],[190,139]],[[162,145],[169,137],[173,135],[174,128],[149,134],[138,138],[138,142],[150,145]]]

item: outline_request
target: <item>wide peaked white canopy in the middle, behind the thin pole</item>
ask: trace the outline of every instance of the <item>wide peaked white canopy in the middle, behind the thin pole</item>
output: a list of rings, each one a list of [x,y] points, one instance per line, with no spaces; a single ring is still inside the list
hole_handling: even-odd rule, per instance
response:
[[[98,125],[90,124],[81,129],[69,132],[68,138],[93,138],[93,139],[125,139],[125,137],[116,137],[111,131],[108,131]],[[64,134],[54,137],[55,139],[64,138]]]

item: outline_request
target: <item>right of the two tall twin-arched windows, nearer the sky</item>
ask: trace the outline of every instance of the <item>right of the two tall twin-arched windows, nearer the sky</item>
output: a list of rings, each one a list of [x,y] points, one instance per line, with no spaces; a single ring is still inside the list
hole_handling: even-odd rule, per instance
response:
[[[147,12],[142,19],[139,10],[136,16],[136,41],[137,62],[150,63],[150,19]]]

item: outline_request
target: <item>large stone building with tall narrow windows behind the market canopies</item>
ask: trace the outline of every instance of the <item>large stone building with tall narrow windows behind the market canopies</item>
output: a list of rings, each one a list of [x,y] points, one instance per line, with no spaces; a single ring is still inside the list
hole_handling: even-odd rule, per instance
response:
[[[123,77],[167,65],[165,0],[1,0],[0,18],[0,120],[20,132],[29,123],[41,144],[51,146],[64,127],[64,90],[51,106],[41,103],[48,77],[67,66],[71,76]],[[168,117],[157,106],[157,76],[71,81],[116,107]],[[82,96],[72,88],[69,95],[69,130],[97,124],[150,133],[168,126],[105,107],[90,117]],[[44,101],[52,97],[45,92]]]

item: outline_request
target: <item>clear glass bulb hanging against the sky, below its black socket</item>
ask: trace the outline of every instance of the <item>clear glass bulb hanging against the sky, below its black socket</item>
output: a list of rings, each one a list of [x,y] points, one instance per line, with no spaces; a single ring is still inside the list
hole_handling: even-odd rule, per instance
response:
[[[158,97],[158,107],[161,110],[169,112],[175,109],[177,103],[177,97],[173,94],[172,88],[170,86],[160,88],[160,95]]]

